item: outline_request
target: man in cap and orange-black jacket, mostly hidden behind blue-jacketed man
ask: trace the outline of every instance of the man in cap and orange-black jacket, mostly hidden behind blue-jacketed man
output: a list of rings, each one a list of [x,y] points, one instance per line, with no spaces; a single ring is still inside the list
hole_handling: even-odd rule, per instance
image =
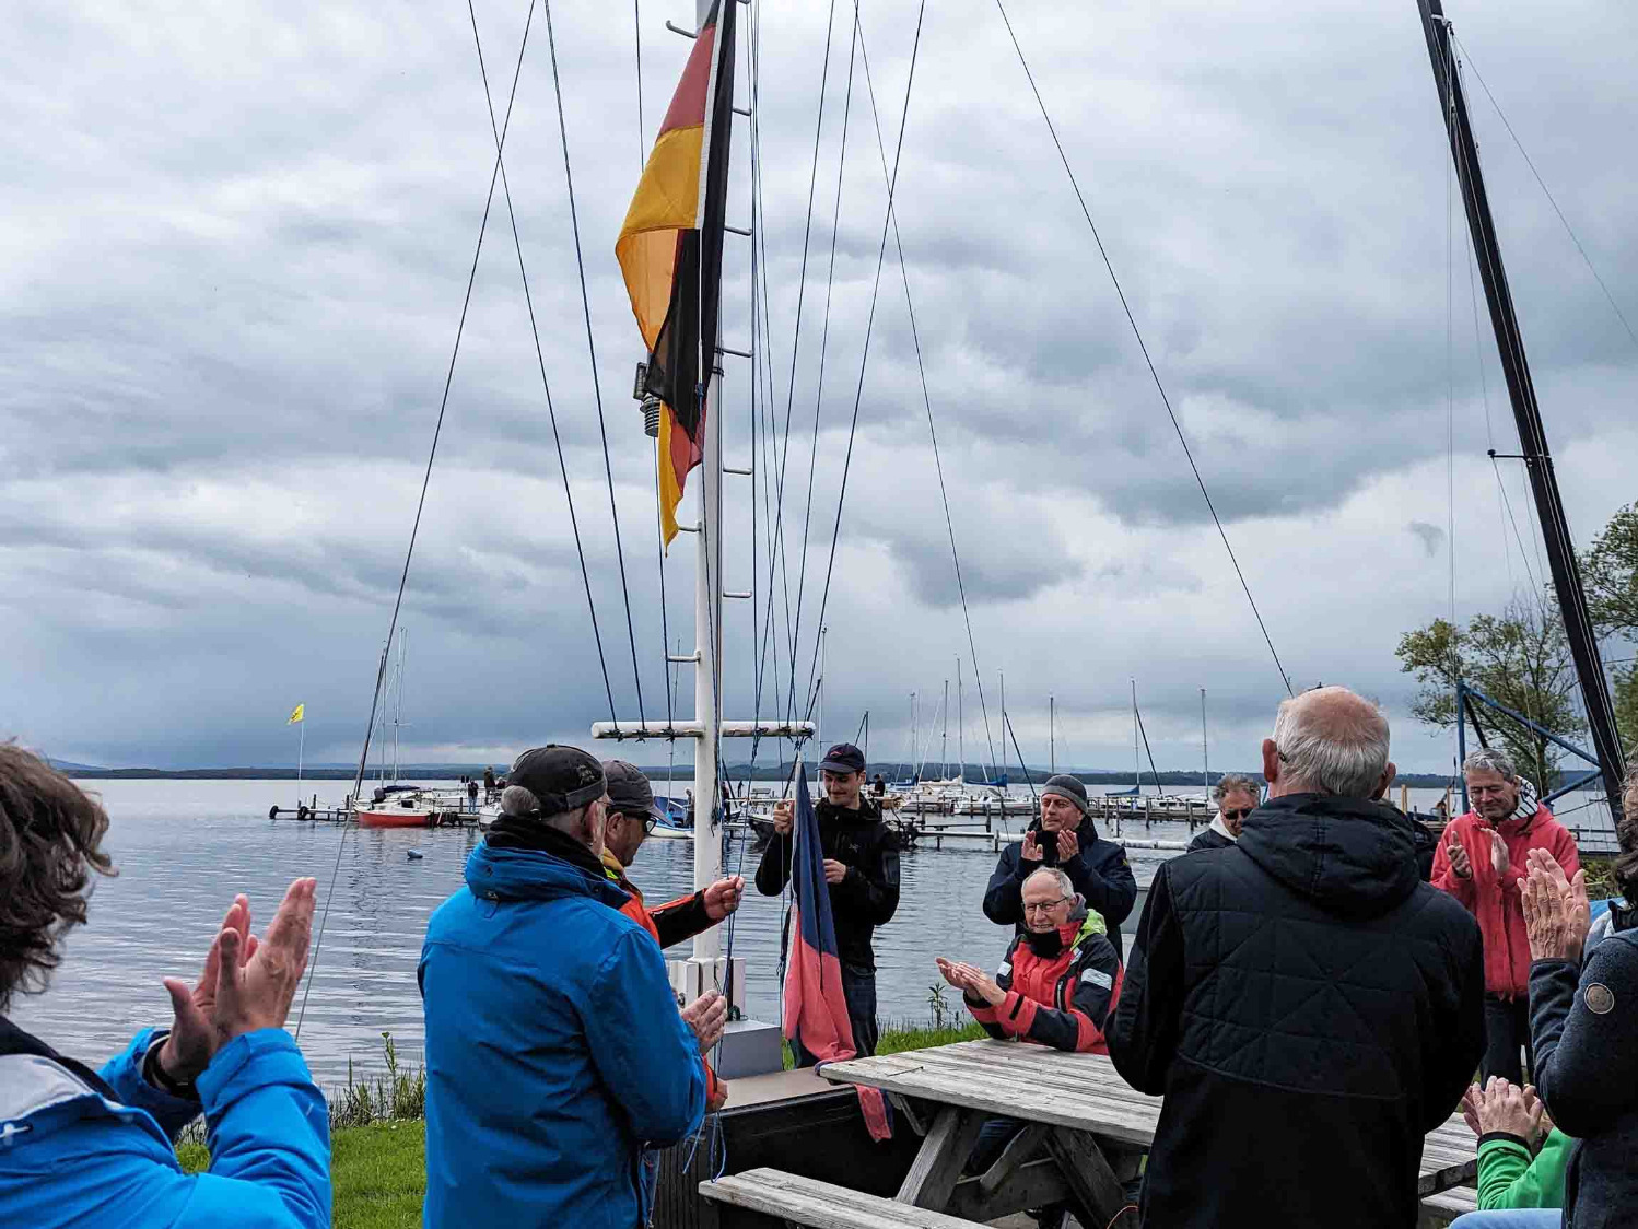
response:
[[[652,909],[644,903],[642,891],[627,878],[626,872],[649,839],[662,811],[654,801],[654,787],[642,769],[626,760],[604,760],[603,777],[608,782],[609,813],[603,828],[603,870],[621,891],[626,903],[621,913],[637,923],[654,936],[660,947],[680,944],[693,939],[701,931],[708,931],[739,908],[745,891],[745,877],[731,875],[719,878],[708,888],[699,888],[686,896],[678,896]],[[722,995],[701,995],[688,1008],[690,1014],[721,1014],[727,1018],[727,1000]],[[727,1083],[719,1080],[716,1072],[701,1055],[706,1073],[706,1103],[717,1109],[727,1101]]]

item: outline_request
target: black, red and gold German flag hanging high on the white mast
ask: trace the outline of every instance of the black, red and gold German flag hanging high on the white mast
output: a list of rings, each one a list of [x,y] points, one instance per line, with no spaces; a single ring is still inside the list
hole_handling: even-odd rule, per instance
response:
[[[716,367],[722,221],[734,118],[734,10],[717,0],[642,169],[614,256],[649,346],[644,392],[660,413],[660,523],[676,536],[688,470],[704,452],[706,385]]]

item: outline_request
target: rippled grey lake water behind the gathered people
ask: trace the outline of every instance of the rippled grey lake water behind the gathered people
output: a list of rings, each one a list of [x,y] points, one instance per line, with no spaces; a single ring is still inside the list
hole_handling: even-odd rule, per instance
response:
[[[234,893],[251,896],[254,927],[272,919],[292,878],[318,880],[319,911],[329,909],[323,944],[310,960],[311,990],[301,1049],[319,1080],[341,1080],[349,1060],[377,1067],[380,1034],[418,1057],[421,1000],[416,960],[428,916],[462,885],[462,867],[480,836],[472,828],[362,829],[341,824],[270,821],[274,803],[295,805],[293,782],[106,780],[85,782],[102,793],[113,818],[106,847],[120,875],[98,882],[90,924],[74,931],[51,988],[20,998],[11,1016],[51,1045],[93,1065],[147,1024],[167,1024],[162,977],[198,977],[200,962]],[[306,787],[311,793],[313,783]],[[344,785],[318,783],[321,800]],[[1437,791],[1412,791],[1430,806]],[[1020,821],[1012,819],[1014,826]],[[1184,824],[1156,823],[1127,836],[1186,839]],[[424,857],[411,860],[408,850]],[[1166,854],[1133,850],[1140,885]],[[740,839],[731,868],[755,872],[755,854]],[[693,883],[690,841],[647,841],[632,882],[650,901]],[[935,955],[993,965],[1007,929],[981,909],[994,867],[988,850],[912,850],[901,859],[903,893],[894,919],[876,931],[878,1003],[889,1019],[925,1021]],[[747,893],[734,929],[734,954],[745,959],[745,1006],[757,1019],[778,1019],[781,901]],[[673,949],[686,955],[686,946]],[[955,1005],[955,996],[948,996]],[[300,1008],[300,998],[296,1000]],[[295,1027],[292,1011],[290,1026]]]

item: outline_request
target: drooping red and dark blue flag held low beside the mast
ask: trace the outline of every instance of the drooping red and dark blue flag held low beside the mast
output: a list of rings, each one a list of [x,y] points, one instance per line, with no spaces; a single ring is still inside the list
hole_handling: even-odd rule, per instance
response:
[[[819,818],[808,795],[808,769],[796,767],[796,816],[791,826],[791,916],[785,926],[785,1037],[819,1065],[858,1055],[842,993],[842,959],[824,882]],[[858,1108],[875,1141],[893,1134],[880,1088],[858,1086]]]

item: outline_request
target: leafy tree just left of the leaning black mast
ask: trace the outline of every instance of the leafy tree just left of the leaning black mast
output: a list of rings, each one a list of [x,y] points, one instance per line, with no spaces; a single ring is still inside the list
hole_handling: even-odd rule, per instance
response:
[[[1405,633],[1394,655],[1399,669],[1422,685],[1412,714],[1440,729],[1456,724],[1458,677],[1559,737],[1587,729],[1574,703],[1579,680],[1564,623],[1541,598],[1515,600],[1500,616],[1474,614],[1464,628],[1433,619]],[[1543,788],[1551,785],[1563,759],[1558,747],[1500,714],[1484,711],[1479,719],[1525,777]]]

